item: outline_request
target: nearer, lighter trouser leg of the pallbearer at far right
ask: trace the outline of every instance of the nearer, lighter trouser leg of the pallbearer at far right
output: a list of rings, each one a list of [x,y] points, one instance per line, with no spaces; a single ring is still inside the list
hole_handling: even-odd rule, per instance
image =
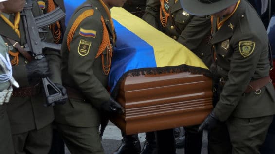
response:
[[[226,125],[232,154],[260,154],[273,115],[257,118],[230,118]]]

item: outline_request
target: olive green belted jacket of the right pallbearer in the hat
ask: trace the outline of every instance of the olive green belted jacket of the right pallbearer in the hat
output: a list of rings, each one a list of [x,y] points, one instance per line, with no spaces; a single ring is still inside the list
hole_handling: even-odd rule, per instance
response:
[[[220,121],[229,116],[255,118],[275,113],[272,83],[261,93],[245,93],[250,81],[269,76],[268,37],[260,18],[251,5],[241,0],[236,12],[216,31],[211,44],[216,52],[218,74],[225,80],[220,100],[214,108]]]

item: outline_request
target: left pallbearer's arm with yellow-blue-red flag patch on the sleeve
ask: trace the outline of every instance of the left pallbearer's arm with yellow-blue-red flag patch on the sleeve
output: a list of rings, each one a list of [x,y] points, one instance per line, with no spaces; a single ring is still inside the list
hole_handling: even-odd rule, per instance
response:
[[[100,108],[101,103],[110,98],[106,87],[101,84],[93,70],[94,62],[101,61],[101,57],[95,59],[95,56],[101,44],[102,35],[100,17],[95,15],[87,17],[80,23],[73,35],[68,57],[69,74],[87,99],[97,108]],[[101,65],[97,67],[102,69]],[[103,71],[100,70],[97,73],[103,74]]]

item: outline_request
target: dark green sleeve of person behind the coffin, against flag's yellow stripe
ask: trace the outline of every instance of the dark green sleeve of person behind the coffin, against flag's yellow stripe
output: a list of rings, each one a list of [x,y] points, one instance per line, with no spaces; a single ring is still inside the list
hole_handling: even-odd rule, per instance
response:
[[[207,33],[210,32],[210,29],[210,16],[193,16],[179,36],[178,42],[186,46],[189,50],[194,51]]]

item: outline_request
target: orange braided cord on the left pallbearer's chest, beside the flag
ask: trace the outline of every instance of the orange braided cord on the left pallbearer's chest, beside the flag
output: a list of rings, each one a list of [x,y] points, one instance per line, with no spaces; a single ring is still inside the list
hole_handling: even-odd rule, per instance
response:
[[[101,16],[101,22],[102,22],[102,25],[103,25],[103,39],[102,39],[102,42],[99,46],[99,49],[98,49],[98,52],[97,52],[95,58],[97,58],[98,56],[101,55],[101,62],[102,62],[103,72],[104,72],[105,75],[108,75],[109,72],[110,72],[110,68],[111,68],[112,46],[111,46],[111,43],[110,43],[109,33],[108,33],[107,27],[105,25],[103,16]],[[104,55],[102,54],[103,51],[106,49],[106,47],[107,47],[107,54],[106,54],[106,56],[107,56],[106,57],[107,65],[105,65]]]

